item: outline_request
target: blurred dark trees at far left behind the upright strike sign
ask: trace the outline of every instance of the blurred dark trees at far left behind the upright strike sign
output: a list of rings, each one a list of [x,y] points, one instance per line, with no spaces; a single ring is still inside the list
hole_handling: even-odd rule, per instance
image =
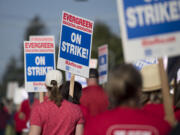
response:
[[[44,35],[47,33],[47,28],[40,17],[35,16],[29,23],[29,26],[25,30],[24,41],[29,40],[30,35]],[[21,44],[21,65],[18,67],[18,61],[12,56],[7,64],[6,71],[3,75],[2,85],[0,85],[0,96],[3,97],[6,94],[7,83],[10,81],[17,81],[19,86],[24,85],[24,45]]]

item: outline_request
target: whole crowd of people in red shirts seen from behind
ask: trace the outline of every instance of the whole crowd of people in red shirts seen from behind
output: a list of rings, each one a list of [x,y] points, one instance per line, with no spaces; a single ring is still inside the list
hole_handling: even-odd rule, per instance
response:
[[[121,64],[109,74],[106,89],[98,85],[98,71],[90,69],[87,87],[64,81],[60,70],[46,74],[44,101],[25,100],[14,113],[16,135],[175,135],[178,127],[165,120],[158,64],[141,72],[131,64]],[[177,91],[179,88],[177,89]],[[173,98],[173,96],[172,96]],[[177,123],[179,106],[172,106]],[[10,115],[1,108],[0,135]]]

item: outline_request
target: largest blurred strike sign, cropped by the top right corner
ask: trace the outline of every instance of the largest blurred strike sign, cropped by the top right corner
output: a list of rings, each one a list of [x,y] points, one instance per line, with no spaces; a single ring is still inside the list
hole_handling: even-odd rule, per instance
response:
[[[180,54],[179,0],[117,0],[125,61]]]

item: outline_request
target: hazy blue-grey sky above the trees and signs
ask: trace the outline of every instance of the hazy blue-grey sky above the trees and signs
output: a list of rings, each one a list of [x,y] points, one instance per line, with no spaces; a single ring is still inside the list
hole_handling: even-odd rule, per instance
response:
[[[0,0],[0,80],[11,57],[20,60],[21,45],[29,21],[36,15],[58,43],[62,11],[107,24],[120,35],[115,0]]]

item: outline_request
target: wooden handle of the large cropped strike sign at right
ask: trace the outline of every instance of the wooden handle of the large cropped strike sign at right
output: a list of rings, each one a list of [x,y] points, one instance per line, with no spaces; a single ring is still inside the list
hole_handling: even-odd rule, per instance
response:
[[[171,126],[175,126],[177,122],[174,117],[173,101],[170,98],[170,94],[169,94],[168,79],[164,69],[163,59],[159,58],[158,62],[159,62],[159,71],[160,71],[160,79],[161,79],[161,87],[162,87],[162,95],[163,95],[165,120],[167,120]]]

